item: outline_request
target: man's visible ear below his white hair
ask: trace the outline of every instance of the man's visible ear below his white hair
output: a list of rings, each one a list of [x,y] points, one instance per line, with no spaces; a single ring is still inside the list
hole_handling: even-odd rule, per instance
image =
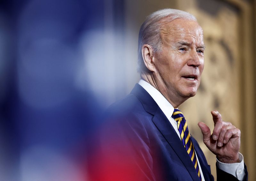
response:
[[[154,51],[151,48],[151,46],[148,44],[144,44],[142,46],[141,53],[142,53],[142,58],[144,60],[145,66],[151,72],[155,72],[156,71],[155,64],[154,64],[155,57],[154,57]]]

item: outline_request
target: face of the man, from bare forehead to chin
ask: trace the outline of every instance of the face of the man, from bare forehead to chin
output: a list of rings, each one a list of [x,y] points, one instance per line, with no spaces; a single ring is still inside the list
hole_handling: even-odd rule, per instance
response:
[[[162,51],[155,53],[155,76],[164,85],[160,92],[170,100],[195,96],[204,69],[202,28],[196,21],[176,19],[162,27],[161,36]]]

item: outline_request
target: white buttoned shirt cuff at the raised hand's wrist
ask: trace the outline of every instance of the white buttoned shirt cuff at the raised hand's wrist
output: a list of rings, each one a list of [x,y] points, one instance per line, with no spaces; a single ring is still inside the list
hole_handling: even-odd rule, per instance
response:
[[[217,166],[219,169],[233,175],[238,180],[244,180],[244,156],[239,153],[238,156],[240,163],[222,163],[217,158]]]

